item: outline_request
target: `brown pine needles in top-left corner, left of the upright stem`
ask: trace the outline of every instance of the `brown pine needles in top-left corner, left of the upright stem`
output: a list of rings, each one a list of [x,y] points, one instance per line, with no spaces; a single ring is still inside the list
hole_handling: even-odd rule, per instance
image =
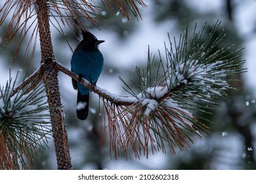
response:
[[[28,35],[30,29],[33,29],[32,35],[30,35],[30,41],[28,42],[26,46],[26,51],[24,55],[24,61],[28,56],[34,58],[35,54],[35,38],[36,38],[36,16],[35,16],[35,8],[32,6],[33,1],[32,0],[7,0],[5,1],[5,4],[3,7],[0,8],[0,12],[3,12],[1,14],[0,18],[0,25],[5,22],[5,19],[9,14],[12,15],[11,21],[9,21],[4,33],[3,33],[3,39],[0,43],[7,42],[9,44],[12,39],[16,36],[16,33],[19,31],[18,35],[18,41],[16,50],[14,52],[13,61],[16,61],[18,58],[18,54],[21,49],[21,45],[25,40],[26,35]],[[28,24],[28,22],[30,22]],[[30,47],[32,46],[32,53],[30,54]]]

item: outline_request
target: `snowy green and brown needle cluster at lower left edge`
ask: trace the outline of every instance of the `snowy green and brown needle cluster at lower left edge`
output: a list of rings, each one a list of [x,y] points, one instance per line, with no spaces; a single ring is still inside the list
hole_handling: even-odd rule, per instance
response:
[[[45,90],[37,85],[28,92],[30,86],[25,86],[12,95],[16,78],[12,81],[10,73],[6,86],[0,86],[0,169],[30,169],[37,149],[51,135]]]

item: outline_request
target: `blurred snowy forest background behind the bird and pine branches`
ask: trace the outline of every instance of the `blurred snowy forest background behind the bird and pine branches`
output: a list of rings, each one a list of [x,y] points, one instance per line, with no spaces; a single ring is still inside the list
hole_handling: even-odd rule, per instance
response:
[[[71,79],[60,73],[60,92],[74,169],[256,169],[256,1],[144,0],[148,7],[141,8],[142,20],[139,21],[132,15],[127,20],[118,10],[112,13],[108,7],[102,6],[101,1],[98,3],[102,7],[100,13],[107,19],[96,20],[100,29],[86,21],[84,24],[99,40],[106,41],[100,44],[104,56],[104,70],[97,82],[100,88],[128,95],[118,76],[127,82],[129,79],[136,80],[135,66],[146,67],[148,45],[156,58],[158,50],[164,56],[164,42],[169,43],[167,33],[171,38],[179,38],[187,26],[193,33],[196,22],[200,30],[205,22],[215,25],[220,20],[220,29],[226,27],[226,37],[220,42],[219,48],[232,44],[236,44],[234,49],[245,48],[240,59],[246,60],[244,67],[247,72],[236,76],[240,82],[234,82],[234,87],[238,90],[230,91],[227,99],[219,99],[219,110],[213,110],[213,114],[207,116],[200,114],[212,121],[206,124],[210,127],[210,133],[204,135],[202,141],[196,140],[190,150],[177,150],[175,155],[168,151],[166,154],[159,152],[148,159],[144,156],[140,159],[111,157],[108,146],[100,146],[98,96],[91,94],[89,118],[86,121],[77,120],[77,93],[72,88]],[[5,24],[0,27],[0,39],[4,30]],[[51,31],[56,59],[70,69],[72,50],[53,26]],[[77,39],[69,29],[65,33],[72,49],[75,49]],[[24,77],[22,75],[37,69],[41,56],[38,40],[36,46],[34,61],[24,61],[24,46],[18,61],[12,63],[15,40],[6,48],[0,45],[1,86],[9,79],[9,68],[12,68],[13,76],[18,69],[22,69],[20,82]],[[49,139],[49,147],[41,149],[39,162],[33,166],[33,169],[56,169],[53,139]]]

